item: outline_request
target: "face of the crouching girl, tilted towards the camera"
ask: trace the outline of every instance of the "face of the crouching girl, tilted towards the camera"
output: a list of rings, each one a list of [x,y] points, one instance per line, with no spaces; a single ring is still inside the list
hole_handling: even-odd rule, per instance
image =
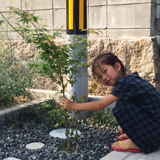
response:
[[[123,77],[119,62],[116,62],[114,66],[100,63],[99,67],[95,68],[95,73],[100,82],[106,86],[115,86],[117,80]]]

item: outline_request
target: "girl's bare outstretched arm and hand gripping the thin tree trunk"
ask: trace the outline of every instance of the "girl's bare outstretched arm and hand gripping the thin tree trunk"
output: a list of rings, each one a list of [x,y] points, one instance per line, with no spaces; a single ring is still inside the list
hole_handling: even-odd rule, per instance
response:
[[[118,100],[118,97],[109,94],[105,98],[99,101],[85,102],[85,103],[74,103],[67,98],[62,98],[62,106],[68,110],[79,110],[79,111],[94,111],[94,110],[102,110],[111,103]]]

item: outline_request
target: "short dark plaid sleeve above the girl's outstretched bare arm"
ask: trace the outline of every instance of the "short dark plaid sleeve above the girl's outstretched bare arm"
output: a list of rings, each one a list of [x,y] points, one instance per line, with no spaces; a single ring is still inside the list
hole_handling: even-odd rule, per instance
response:
[[[129,83],[127,78],[123,77],[117,81],[111,94],[120,99],[131,101],[133,97],[137,95],[137,87],[132,83]]]

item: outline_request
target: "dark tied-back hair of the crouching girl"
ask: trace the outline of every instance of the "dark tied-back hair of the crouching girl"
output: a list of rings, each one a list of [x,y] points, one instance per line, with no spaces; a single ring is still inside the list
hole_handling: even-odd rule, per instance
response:
[[[116,62],[120,63],[121,70],[122,70],[123,74],[126,75],[126,69],[125,69],[123,63],[121,62],[121,60],[118,59],[118,57],[116,55],[114,55],[113,53],[103,53],[103,54],[98,55],[93,61],[93,64],[92,64],[92,74],[93,74],[93,76],[95,76],[95,67],[96,66],[99,67],[100,63],[105,63],[105,64],[108,64],[108,65],[114,66],[114,64]]]

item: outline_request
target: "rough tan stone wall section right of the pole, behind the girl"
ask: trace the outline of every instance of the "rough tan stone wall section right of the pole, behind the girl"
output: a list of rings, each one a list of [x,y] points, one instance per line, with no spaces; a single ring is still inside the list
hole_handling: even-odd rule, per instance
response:
[[[160,92],[160,52],[156,38],[108,38],[92,39],[88,49],[88,60],[92,61],[100,53],[112,52],[124,63],[127,73],[138,72],[152,83]],[[89,88],[93,77],[89,69]],[[95,94],[104,96],[111,92],[111,87],[99,84]]]

